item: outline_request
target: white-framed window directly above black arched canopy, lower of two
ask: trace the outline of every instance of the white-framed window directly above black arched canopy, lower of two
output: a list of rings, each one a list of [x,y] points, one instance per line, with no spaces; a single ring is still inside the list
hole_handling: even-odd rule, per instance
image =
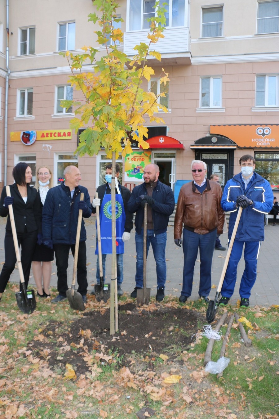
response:
[[[200,80],[200,107],[220,108],[222,106],[222,78],[202,77]]]

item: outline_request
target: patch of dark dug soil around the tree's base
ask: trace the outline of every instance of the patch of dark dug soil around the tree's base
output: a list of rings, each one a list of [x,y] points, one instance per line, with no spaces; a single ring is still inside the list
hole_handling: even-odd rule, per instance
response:
[[[69,363],[79,374],[90,370],[88,355],[95,350],[106,356],[117,354],[121,365],[128,365],[133,352],[177,357],[189,348],[191,337],[205,318],[194,310],[155,306],[138,310],[135,304],[119,306],[119,331],[110,335],[110,309],[84,312],[82,318],[65,324],[52,322],[29,343],[33,356],[44,358],[50,367]],[[201,324],[201,323],[200,323]],[[102,356],[100,357],[102,359]]]

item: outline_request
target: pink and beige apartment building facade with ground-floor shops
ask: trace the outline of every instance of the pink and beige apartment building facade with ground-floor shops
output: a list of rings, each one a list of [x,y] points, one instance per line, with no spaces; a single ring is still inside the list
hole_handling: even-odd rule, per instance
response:
[[[163,3],[163,1],[162,1]],[[252,154],[256,170],[279,191],[279,0],[164,0],[164,39],[154,47],[154,93],[161,67],[169,73],[160,114],[164,124],[150,123],[146,161],[156,162],[160,178],[171,187],[189,180],[191,161],[205,160],[208,176],[218,173],[222,185],[238,173],[238,160]],[[124,32],[119,48],[133,56],[146,42],[148,17],[155,0],[120,0]],[[8,14],[7,14],[8,10]],[[13,182],[18,161],[53,169],[58,183],[64,167],[79,166],[82,184],[93,196],[103,183],[108,161],[74,154],[78,135],[69,128],[74,111],[61,99],[79,98],[68,82],[67,60],[59,52],[96,47],[95,30],[87,16],[92,1],[6,0],[0,3],[0,162],[1,184]],[[7,18],[8,16],[8,18]],[[7,28],[8,27],[8,31]],[[8,33],[8,37],[7,37]],[[8,44],[6,39],[8,38]],[[100,47],[100,56],[105,49]],[[7,59],[8,57],[8,59]],[[8,68],[7,68],[8,67]],[[90,66],[84,66],[89,71]],[[8,90],[7,90],[8,86]],[[134,144],[134,161],[142,150]],[[129,159],[128,159],[129,160]],[[122,183],[131,189],[141,182],[140,167],[120,158]],[[131,162],[131,156],[130,156]],[[138,171],[138,173],[137,173]]]

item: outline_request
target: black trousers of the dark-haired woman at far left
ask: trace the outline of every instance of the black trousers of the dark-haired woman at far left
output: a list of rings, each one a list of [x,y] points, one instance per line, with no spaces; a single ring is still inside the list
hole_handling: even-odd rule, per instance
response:
[[[21,265],[24,274],[24,281],[26,288],[29,282],[30,269],[32,263],[33,253],[36,247],[37,242],[37,230],[27,233],[17,233],[18,236],[18,247],[21,246]],[[10,275],[15,269],[16,264],[16,254],[15,246],[13,244],[13,233],[10,230],[6,230],[5,240],[5,263],[3,265],[1,274],[0,274],[0,292],[4,292],[5,288],[9,282]],[[21,287],[20,287],[21,289]]]

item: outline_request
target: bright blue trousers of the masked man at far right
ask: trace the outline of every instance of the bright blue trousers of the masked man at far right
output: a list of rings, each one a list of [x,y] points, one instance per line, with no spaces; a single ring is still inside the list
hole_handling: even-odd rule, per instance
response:
[[[233,295],[233,290],[236,282],[237,265],[242,256],[242,249],[244,248],[245,269],[241,278],[239,295],[241,298],[249,298],[251,289],[256,282],[257,277],[257,261],[259,250],[261,246],[260,241],[238,241],[233,242],[233,248],[230,253],[230,260],[225,273],[225,278],[221,290],[223,297],[230,298]]]

